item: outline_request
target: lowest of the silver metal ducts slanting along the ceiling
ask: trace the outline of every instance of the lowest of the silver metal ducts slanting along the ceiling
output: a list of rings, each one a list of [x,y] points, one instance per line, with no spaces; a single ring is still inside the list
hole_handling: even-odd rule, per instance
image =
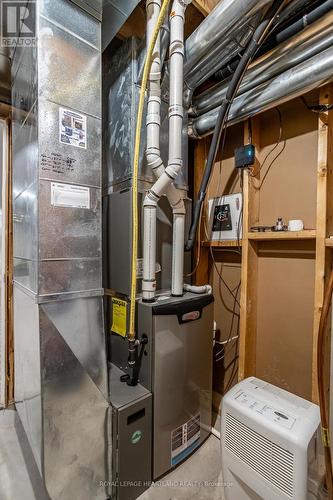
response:
[[[237,97],[231,106],[228,124],[256,115],[333,79],[333,47],[285,71],[275,78]],[[219,108],[192,121],[189,136],[200,138],[213,132]]]

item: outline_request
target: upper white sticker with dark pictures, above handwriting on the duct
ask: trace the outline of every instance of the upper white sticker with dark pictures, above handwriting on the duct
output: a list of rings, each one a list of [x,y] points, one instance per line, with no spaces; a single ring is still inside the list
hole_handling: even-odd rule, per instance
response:
[[[70,109],[59,108],[59,141],[87,149],[87,117]]]

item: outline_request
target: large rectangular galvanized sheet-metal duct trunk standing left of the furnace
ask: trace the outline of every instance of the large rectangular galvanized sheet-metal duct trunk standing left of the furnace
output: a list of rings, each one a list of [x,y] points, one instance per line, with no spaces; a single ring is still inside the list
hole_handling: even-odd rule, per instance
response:
[[[105,500],[101,25],[37,0],[13,61],[15,402],[53,500]]]

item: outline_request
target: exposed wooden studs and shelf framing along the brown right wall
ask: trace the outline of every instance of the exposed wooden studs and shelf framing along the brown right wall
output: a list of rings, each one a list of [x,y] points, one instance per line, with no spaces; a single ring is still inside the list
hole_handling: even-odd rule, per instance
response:
[[[333,85],[329,84],[319,90],[319,99],[322,105],[333,104]],[[300,106],[300,104],[299,104]],[[301,113],[307,113],[306,109]],[[309,112],[310,113],[310,112]],[[292,116],[292,115],[289,115]],[[317,165],[315,161],[315,151],[313,151],[313,159],[308,160],[308,168],[312,171],[310,177],[311,185],[317,190],[317,198],[311,202],[313,206],[313,221],[308,222],[306,229],[298,232],[265,232],[256,233],[251,232],[251,226],[262,223],[260,211],[260,159],[261,150],[263,151],[263,127],[264,120],[257,116],[250,122],[244,123],[244,143],[249,143],[249,137],[256,146],[257,159],[256,165],[252,170],[245,170],[243,174],[243,239],[242,246],[242,267],[241,267],[241,316],[240,316],[240,339],[239,339],[239,380],[248,376],[257,375],[259,366],[257,365],[256,357],[257,351],[257,335],[259,328],[259,319],[257,317],[258,310],[258,280],[259,280],[259,261],[261,260],[262,250],[271,251],[277,255],[287,254],[289,259],[310,259],[313,261],[313,274],[307,278],[309,282],[304,283],[304,286],[310,287],[314,294],[314,307],[313,315],[309,313],[307,321],[310,317],[313,318],[313,325],[309,323],[309,330],[307,331],[307,342],[309,346],[312,345],[312,367],[311,362],[308,364],[307,376],[309,376],[308,387],[311,391],[306,391],[307,397],[317,403],[318,402],[318,389],[317,389],[317,339],[318,328],[320,321],[320,314],[323,304],[325,292],[325,278],[332,265],[332,249],[333,249],[333,111],[323,112],[318,114],[318,131],[312,115],[312,131],[315,137],[318,134],[318,152],[317,152]],[[262,125],[261,125],[262,123]],[[299,123],[299,122],[298,122]],[[285,123],[285,133],[290,134],[290,127]],[[288,131],[289,130],[289,131]],[[304,132],[307,133],[306,127]],[[289,137],[293,137],[290,136]],[[299,138],[298,138],[299,140]],[[314,139],[312,139],[314,141]],[[207,140],[206,140],[207,141]],[[201,144],[201,145],[200,145]],[[202,168],[206,159],[207,146],[204,141],[200,141],[196,145],[196,183],[195,192],[197,192],[198,182],[201,179]],[[312,143],[313,144],[313,143]],[[313,147],[313,146],[312,146]],[[205,152],[206,150],[206,152]],[[198,152],[200,151],[200,155]],[[293,149],[289,149],[289,152]],[[262,152],[262,154],[264,154]],[[294,153],[295,154],[295,153]],[[288,160],[285,160],[288,161]],[[291,160],[292,161],[292,160]],[[315,172],[317,176],[315,177]],[[296,177],[297,180],[297,177]],[[281,181],[288,182],[287,179]],[[309,181],[308,181],[309,182]],[[295,174],[293,177],[295,183]],[[308,185],[307,185],[308,186]],[[280,186],[280,196],[285,188]],[[286,190],[286,196],[290,196],[293,189],[297,189],[297,185],[291,184]],[[299,188],[302,190],[302,187]],[[308,188],[307,188],[308,189]],[[227,193],[226,193],[227,194]],[[298,193],[299,194],[299,193]],[[315,193],[314,193],[315,194]],[[297,198],[298,199],[298,198]],[[267,194],[266,194],[267,203]],[[313,205],[312,205],[313,203]],[[302,212],[301,212],[302,215]],[[315,225],[314,225],[315,224]],[[308,229],[308,228],[311,229]],[[218,250],[219,248],[227,250],[228,248],[237,246],[237,242],[232,241],[207,241],[207,237],[202,237],[202,251],[205,257],[200,260],[200,265],[197,270],[197,276],[200,277],[199,282],[203,283],[209,275],[210,269],[210,252]],[[270,245],[270,246],[267,246]],[[209,250],[209,253],[207,252]],[[288,259],[287,259],[288,260]],[[291,261],[292,262],[292,261]],[[288,264],[288,269],[290,266]],[[261,268],[260,268],[261,269]],[[296,269],[296,268],[295,268]],[[301,269],[297,267],[297,269]],[[303,268],[302,268],[303,269]],[[288,281],[286,282],[288,287]],[[312,303],[312,299],[311,299]],[[298,309],[299,311],[299,309]],[[289,314],[289,312],[288,312]],[[292,314],[292,313],[290,313]],[[312,321],[312,319],[311,319]],[[313,332],[313,338],[309,337]],[[262,332],[261,332],[262,335]],[[301,337],[301,335],[300,335]],[[327,346],[330,345],[329,334],[327,334]],[[312,344],[311,344],[312,343]],[[311,349],[311,347],[310,347]],[[311,351],[310,351],[311,354]],[[309,358],[310,359],[310,358]],[[325,367],[327,374],[329,374],[329,366]],[[328,375],[327,375],[328,376]],[[311,382],[311,387],[310,387]],[[291,384],[292,385],[292,384]],[[285,387],[287,388],[287,387]],[[302,394],[300,394],[302,395]],[[303,397],[305,397],[303,395]]]

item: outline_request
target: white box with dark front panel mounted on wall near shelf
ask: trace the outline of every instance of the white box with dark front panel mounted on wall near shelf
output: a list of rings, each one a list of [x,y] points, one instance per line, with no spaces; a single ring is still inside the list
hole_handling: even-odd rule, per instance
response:
[[[208,202],[211,241],[242,238],[242,193],[212,198]]]

